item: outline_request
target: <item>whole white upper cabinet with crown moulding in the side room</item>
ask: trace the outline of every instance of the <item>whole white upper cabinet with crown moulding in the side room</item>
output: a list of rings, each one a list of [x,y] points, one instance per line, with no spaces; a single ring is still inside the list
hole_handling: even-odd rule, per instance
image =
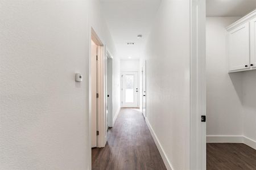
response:
[[[256,10],[226,29],[229,72],[256,69]]]

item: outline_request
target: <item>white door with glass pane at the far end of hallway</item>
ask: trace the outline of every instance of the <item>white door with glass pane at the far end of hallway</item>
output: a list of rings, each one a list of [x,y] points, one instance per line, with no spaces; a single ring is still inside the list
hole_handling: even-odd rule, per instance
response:
[[[138,72],[123,72],[121,83],[122,107],[138,107]]]

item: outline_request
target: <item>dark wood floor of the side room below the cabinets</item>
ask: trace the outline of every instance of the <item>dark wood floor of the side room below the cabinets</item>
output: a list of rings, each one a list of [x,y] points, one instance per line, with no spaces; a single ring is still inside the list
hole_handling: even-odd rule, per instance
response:
[[[256,150],[242,143],[207,143],[207,170],[255,170]]]

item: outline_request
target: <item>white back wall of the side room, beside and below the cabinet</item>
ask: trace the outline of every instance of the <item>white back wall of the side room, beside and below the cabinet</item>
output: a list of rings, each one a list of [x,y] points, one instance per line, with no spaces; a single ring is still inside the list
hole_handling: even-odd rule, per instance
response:
[[[242,73],[228,74],[226,29],[239,18],[207,18],[207,135],[242,135]]]

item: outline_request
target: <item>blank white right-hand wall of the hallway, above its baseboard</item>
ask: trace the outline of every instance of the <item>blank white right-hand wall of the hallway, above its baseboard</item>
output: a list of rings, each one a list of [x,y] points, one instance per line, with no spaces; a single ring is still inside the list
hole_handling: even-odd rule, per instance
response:
[[[163,0],[147,60],[147,122],[167,168],[189,169],[189,1]]]

